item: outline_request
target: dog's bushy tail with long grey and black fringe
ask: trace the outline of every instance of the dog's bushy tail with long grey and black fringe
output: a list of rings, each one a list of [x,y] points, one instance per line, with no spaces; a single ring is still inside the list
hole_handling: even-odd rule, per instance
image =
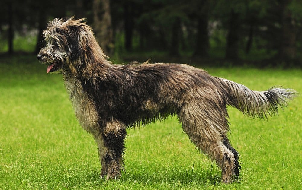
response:
[[[239,109],[243,114],[261,119],[278,114],[278,106],[287,106],[289,100],[298,95],[290,88],[271,87],[266,91],[253,91],[233,81],[219,78],[228,91],[226,103]]]

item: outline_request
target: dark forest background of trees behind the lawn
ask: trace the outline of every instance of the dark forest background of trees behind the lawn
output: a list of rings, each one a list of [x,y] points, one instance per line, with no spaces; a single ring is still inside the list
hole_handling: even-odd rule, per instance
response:
[[[1,0],[0,9],[2,56],[34,55],[49,20],[75,15],[122,60],[302,65],[301,0]]]

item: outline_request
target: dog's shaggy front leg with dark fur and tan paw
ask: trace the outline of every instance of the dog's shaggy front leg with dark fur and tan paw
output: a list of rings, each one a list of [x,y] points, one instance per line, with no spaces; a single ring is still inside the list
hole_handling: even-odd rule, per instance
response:
[[[124,150],[127,132],[122,122],[112,120],[104,126],[102,132],[95,136],[102,165],[101,177],[118,179],[124,169]]]

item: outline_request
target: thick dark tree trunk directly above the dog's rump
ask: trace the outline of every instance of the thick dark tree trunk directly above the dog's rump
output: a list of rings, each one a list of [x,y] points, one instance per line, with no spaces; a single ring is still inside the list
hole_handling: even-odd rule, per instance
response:
[[[206,14],[198,18],[197,39],[195,44],[195,56],[208,56],[208,49],[210,47],[208,35],[208,17]]]

